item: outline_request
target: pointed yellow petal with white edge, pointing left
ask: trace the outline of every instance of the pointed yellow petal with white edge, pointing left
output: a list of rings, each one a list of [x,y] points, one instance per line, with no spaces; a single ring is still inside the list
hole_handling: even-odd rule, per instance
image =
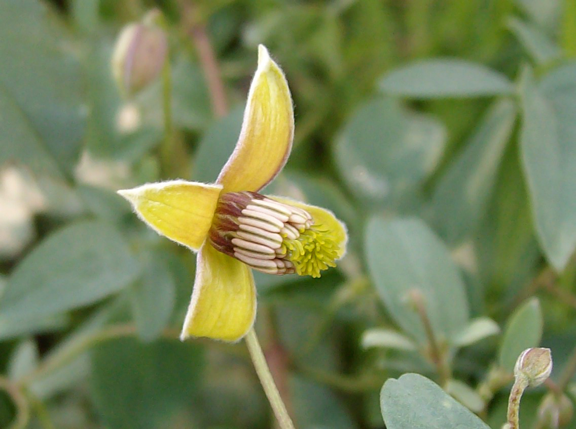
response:
[[[160,235],[197,251],[206,239],[222,185],[175,180],[118,193]]]

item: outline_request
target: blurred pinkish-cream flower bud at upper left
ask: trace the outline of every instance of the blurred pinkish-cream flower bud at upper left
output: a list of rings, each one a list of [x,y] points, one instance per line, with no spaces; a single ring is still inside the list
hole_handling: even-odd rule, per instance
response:
[[[162,71],[168,54],[166,33],[146,18],[124,27],[112,55],[112,72],[120,91],[131,95]]]

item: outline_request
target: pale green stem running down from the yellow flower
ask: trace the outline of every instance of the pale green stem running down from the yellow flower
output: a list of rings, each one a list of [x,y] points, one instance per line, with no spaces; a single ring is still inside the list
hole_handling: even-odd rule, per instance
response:
[[[264,358],[264,353],[262,352],[262,347],[260,347],[254,328],[251,328],[248,335],[246,335],[246,344],[248,346],[250,357],[252,358],[252,363],[256,369],[256,374],[258,375],[258,378],[260,378],[260,384],[262,384],[264,393],[266,393],[266,397],[270,402],[270,406],[274,411],[276,419],[278,419],[280,427],[282,429],[294,429],[294,423],[292,423],[288,411],[286,410],[286,405],[284,405],[282,397],[278,392],[278,388],[276,388],[274,378],[272,378],[272,374],[270,373],[270,369],[266,363],[266,358]]]

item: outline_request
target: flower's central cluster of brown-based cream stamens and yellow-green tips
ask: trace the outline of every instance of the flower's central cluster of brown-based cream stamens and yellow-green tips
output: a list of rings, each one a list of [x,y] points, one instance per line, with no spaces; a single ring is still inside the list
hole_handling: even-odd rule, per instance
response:
[[[300,208],[255,192],[221,196],[209,240],[217,250],[268,274],[311,275],[335,267],[339,246]]]

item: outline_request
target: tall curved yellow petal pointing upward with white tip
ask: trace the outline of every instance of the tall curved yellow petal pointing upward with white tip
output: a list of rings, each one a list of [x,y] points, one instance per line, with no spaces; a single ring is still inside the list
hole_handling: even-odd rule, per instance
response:
[[[286,78],[263,45],[234,152],[217,183],[225,192],[258,191],[282,170],[292,148],[294,112]]]

